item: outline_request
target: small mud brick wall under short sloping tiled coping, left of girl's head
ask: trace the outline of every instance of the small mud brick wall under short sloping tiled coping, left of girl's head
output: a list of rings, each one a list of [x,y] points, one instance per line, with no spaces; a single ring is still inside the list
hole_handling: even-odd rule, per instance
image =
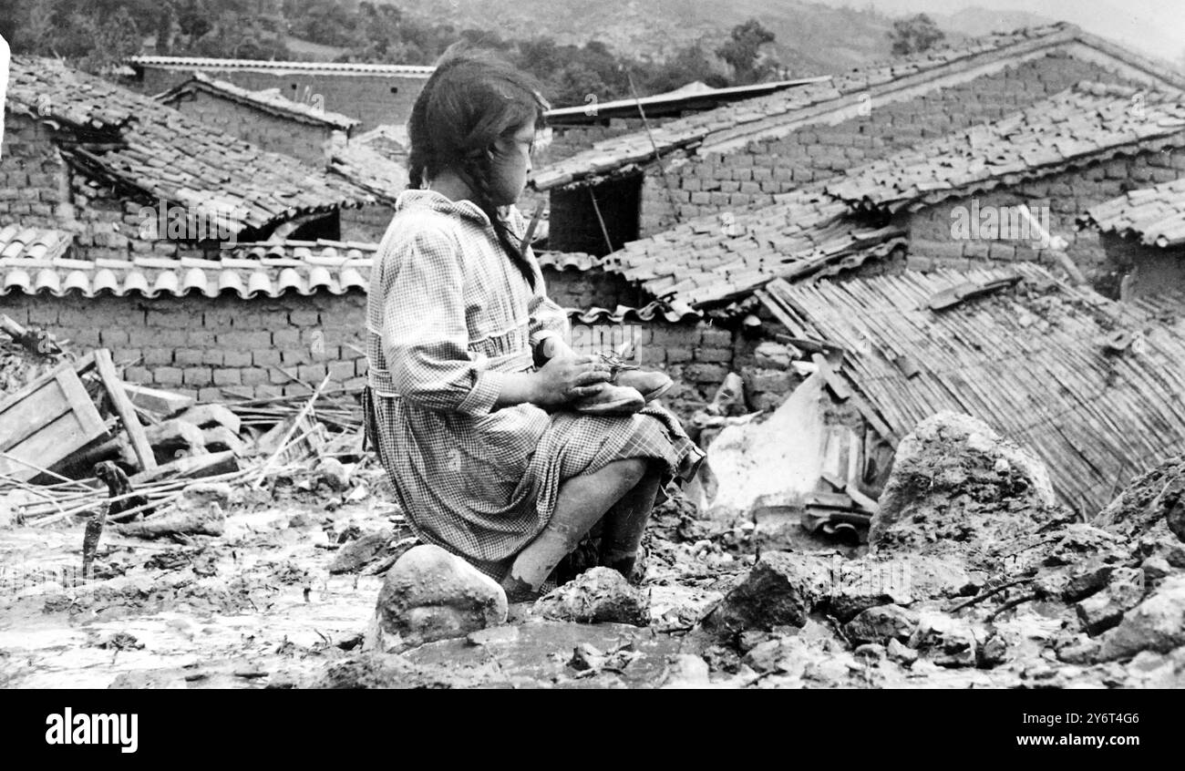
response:
[[[280,117],[205,91],[185,95],[171,105],[265,150],[292,155],[314,168],[325,166],[325,143],[333,134],[329,126]]]

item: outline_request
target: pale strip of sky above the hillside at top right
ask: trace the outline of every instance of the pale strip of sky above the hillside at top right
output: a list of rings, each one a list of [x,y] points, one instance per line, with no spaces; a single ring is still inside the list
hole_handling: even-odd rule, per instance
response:
[[[830,6],[867,7],[889,14],[954,13],[980,7],[1029,11],[1070,21],[1088,32],[1170,60],[1185,54],[1183,0],[814,0]]]

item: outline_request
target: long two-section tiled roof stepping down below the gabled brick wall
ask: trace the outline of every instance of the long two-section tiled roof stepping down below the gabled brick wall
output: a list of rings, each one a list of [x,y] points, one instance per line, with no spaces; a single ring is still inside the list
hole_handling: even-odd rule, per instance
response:
[[[1116,155],[1185,146],[1185,96],[1083,83],[976,126],[779,195],[779,203],[707,214],[604,258],[677,307],[720,303],[775,277],[851,268],[902,245],[886,212],[1013,185]]]

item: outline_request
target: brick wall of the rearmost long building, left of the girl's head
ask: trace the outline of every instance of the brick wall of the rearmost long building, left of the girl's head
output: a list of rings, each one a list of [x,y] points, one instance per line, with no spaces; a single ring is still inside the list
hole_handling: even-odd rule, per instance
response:
[[[389,75],[324,75],[308,72],[226,72],[205,70],[218,81],[228,81],[251,91],[280,89],[280,94],[295,101],[309,102],[320,97],[320,104],[331,113],[341,113],[358,118],[361,126],[356,131],[365,131],[383,123],[406,123],[411,105],[419,95],[427,77],[401,77]],[[141,94],[160,94],[190,78],[188,71],[169,72],[156,68],[145,68],[139,79],[121,79],[121,85]]]

